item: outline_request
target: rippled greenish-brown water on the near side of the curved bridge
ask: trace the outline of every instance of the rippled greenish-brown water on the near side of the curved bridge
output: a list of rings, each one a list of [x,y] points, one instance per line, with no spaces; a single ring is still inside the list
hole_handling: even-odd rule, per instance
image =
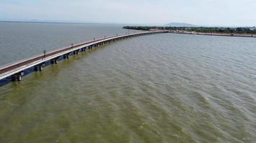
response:
[[[0,87],[0,142],[255,142],[255,47],[156,34],[52,64]]]

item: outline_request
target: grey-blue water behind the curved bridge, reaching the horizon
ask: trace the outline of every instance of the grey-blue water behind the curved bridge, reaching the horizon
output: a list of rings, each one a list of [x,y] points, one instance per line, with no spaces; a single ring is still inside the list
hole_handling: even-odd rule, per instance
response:
[[[132,33],[114,24],[0,22],[0,66],[84,41]]]

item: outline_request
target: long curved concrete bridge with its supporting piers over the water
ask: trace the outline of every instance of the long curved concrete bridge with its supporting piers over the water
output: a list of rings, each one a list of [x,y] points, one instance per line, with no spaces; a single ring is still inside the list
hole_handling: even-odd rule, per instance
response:
[[[51,64],[57,64],[60,56],[63,59],[69,59],[70,55],[78,54],[78,52],[86,51],[87,49],[92,49],[93,47],[108,44],[110,42],[118,41],[120,39],[132,38],[134,36],[142,36],[148,34],[161,34],[167,33],[168,31],[146,31],[135,34],[124,34],[119,36],[109,36],[103,39],[96,39],[93,41],[87,41],[74,46],[64,47],[55,51],[50,51],[49,53],[41,54],[39,56],[34,56],[29,59],[23,59],[22,61],[17,61],[13,64],[8,64],[6,66],[0,67],[0,80],[6,77],[12,77],[12,81],[22,80],[22,75],[25,69],[35,67],[35,71],[42,71],[43,66],[45,66],[45,61],[50,61]]]

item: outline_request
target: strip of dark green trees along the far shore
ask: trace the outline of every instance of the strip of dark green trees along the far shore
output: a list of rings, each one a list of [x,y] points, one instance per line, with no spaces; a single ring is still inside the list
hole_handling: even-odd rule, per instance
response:
[[[195,31],[201,33],[221,33],[221,34],[256,34],[255,27],[175,27],[175,26],[124,26],[124,29],[144,30],[150,29],[170,30],[170,31]]]

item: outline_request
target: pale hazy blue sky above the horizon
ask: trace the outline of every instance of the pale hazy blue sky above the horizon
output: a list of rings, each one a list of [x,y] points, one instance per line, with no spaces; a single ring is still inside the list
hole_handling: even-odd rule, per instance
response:
[[[0,0],[0,19],[254,26],[256,0]]]

